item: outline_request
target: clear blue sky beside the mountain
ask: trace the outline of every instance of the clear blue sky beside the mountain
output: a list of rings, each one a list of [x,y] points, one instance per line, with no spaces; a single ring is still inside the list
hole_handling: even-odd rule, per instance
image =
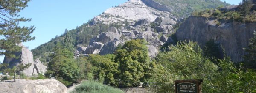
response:
[[[221,0],[237,5],[241,0]],[[93,19],[112,6],[117,6],[127,0],[32,0],[28,7],[20,12],[20,16],[32,18],[31,22],[20,25],[36,27],[31,34],[35,40],[23,43],[29,49],[35,49],[64,33],[65,29],[72,30],[88,20]],[[0,57],[3,62],[4,56]]]

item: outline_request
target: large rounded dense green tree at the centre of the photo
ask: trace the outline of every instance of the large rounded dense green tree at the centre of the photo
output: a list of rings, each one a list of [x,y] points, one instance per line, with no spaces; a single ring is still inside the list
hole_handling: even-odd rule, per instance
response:
[[[117,50],[115,61],[119,63],[120,85],[137,86],[139,82],[145,82],[149,78],[151,67],[145,44],[145,40],[140,39],[126,41]]]

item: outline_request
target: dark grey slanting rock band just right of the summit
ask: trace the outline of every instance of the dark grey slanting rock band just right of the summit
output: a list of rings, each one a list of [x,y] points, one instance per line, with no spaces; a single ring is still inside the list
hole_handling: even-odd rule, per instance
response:
[[[151,6],[152,8],[156,8],[157,10],[160,11],[169,11],[169,9],[160,3],[154,2],[153,0],[141,0],[143,3],[145,3],[148,6]]]

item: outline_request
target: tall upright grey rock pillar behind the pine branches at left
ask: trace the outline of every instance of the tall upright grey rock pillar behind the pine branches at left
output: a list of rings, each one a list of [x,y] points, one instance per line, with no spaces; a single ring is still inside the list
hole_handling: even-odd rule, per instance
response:
[[[8,68],[12,68],[13,66],[18,66],[21,63],[23,64],[32,63],[32,65],[29,66],[29,68],[20,72],[25,74],[26,76],[31,76],[33,74],[33,68],[34,68],[33,54],[31,51],[29,51],[29,49],[27,49],[22,44],[18,44],[18,46],[22,47],[22,49],[20,52],[15,52],[14,55],[16,55],[19,58],[15,59],[15,58],[9,58],[5,56],[3,63],[9,63],[9,66],[7,66]],[[37,74],[37,73],[34,73],[34,74]]]

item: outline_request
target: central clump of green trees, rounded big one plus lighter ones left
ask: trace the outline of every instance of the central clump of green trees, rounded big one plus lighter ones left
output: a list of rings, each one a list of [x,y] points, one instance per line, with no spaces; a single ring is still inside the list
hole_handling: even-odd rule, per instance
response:
[[[147,83],[154,63],[148,57],[145,40],[131,40],[116,51],[116,54],[79,57],[81,79],[96,79],[118,87],[139,86]],[[92,76],[93,75],[93,76]]]

